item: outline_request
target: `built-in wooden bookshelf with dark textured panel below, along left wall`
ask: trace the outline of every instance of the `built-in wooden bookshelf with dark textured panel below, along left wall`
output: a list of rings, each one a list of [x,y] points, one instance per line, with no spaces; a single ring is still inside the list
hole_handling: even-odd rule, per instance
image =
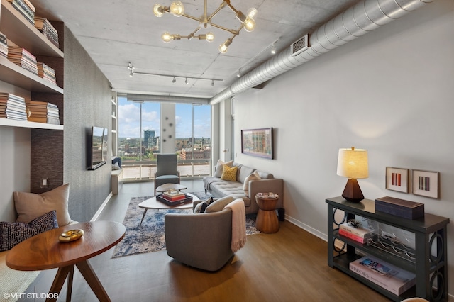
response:
[[[8,46],[22,47],[35,56],[37,62],[55,70],[56,84],[0,56],[1,92],[20,96],[26,103],[33,100],[58,106],[60,125],[0,118],[0,127],[4,131],[9,128],[11,131],[14,131],[13,128],[31,129],[30,191],[42,193],[63,181],[64,24],[50,21],[59,39],[59,43],[52,43],[13,4],[7,0],[0,1],[0,32],[6,35]],[[40,11],[35,11],[35,16],[40,16]],[[48,186],[43,186],[42,179],[47,180]]]

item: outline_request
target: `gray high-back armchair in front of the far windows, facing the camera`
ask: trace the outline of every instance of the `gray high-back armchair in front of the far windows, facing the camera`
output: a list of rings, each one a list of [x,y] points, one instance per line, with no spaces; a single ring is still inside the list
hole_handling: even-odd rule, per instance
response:
[[[162,184],[179,184],[179,171],[176,154],[158,154],[155,172],[156,188]]]

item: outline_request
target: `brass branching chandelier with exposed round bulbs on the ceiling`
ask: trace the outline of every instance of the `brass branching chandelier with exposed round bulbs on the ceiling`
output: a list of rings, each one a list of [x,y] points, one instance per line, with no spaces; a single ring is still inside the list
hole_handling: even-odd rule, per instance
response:
[[[172,13],[172,15],[175,17],[183,16],[183,17],[186,17],[186,18],[199,22],[199,26],[197,26],[197,28],[192,33],[189,33],[189,35],[179,35],[177,33],[167,33],[167,31],[166,31],[165,33],[163,33],[161,35],[161,38],[164,41],[164,43],[170,43],[170,41],[172,41],[172,40],[181,40],[182,38],[188,39],[188,40],[191,40],[192,38],[197,38],[199,40],[206,40],[208,42],[212,42],[214,40],[214,33],[209,32],[206,34],[199,34],[199,35],[196,35],[196,33],[199,30],[201,30],[202,28],[206,29],[206,28],[210,28],[211,26],[213,26],[215,28],[219,28],[221,30],[226,30],[228,33],[233,34],[231,36],[231,38],[228,38],[224,43],[222,43],[219,46],[219,52],[224,53],[227,51],[228,46],[231,45],[233,38],[235,38],[237,35],[240,34],[240,30],[242,30],[244,28],[246,31],[251,32],[255,29],[255,20],[253,17],[257,14],[257,9],[255,9],[255,8],[249,9],[248,13],[245,15],[241,11],[238,11],[237,9],[235,9],[230,4],[230,0],[223,0],[221,5],[218,7],[218,9],[216,9],[216,11],[214,11],[214,13],[211,13],[211,15],[208,16],[208,14],[206,13],[206,1],[207,0],[205,0],[205,3],[204,3],[204,14],[199,18],[196,18],[194,16],[189,16],[186,13],[184,13],[184,5],[182,4],[181,1],[173,1],[172,4],[170,4],[170,6],[168,6],[168,7],[162,6],[160,4],[155,4],[155,7],[153,8],[153,13],[155,13],[155,16],[157,16],[157,17],[164,16],[164,13]],[[221,11],[221,9],[223,9],[225,6],[228,6],[236,14],[235,16],[238,19],[238,21],[240,21],[240,26],[238,27],[238,29],[225,28],[223,26],[220,26],[216,23],[211,22],[211,19],[214,16],[216,16],[216,13]]]

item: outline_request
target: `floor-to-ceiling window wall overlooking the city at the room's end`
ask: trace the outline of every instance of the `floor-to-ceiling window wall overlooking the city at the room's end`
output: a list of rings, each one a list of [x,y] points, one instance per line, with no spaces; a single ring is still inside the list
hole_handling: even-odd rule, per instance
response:
[[[118,156],[125,181],[154,179],[156,155],[169,135],[175,138],[182,177],[209,174],[211,161],[211,106],[175,104],[175,133],[161,129],[160,102],[128,101],[118,96]],[[162,131],[164,131],[162,133]]]

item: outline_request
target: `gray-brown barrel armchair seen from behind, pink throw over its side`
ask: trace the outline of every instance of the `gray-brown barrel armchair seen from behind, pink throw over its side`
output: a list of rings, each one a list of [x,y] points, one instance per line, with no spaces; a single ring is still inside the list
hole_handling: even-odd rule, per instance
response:
[[[233,257],[232,211],[165,215],[167,255],[178,262],[206,271],[221,269]]]

